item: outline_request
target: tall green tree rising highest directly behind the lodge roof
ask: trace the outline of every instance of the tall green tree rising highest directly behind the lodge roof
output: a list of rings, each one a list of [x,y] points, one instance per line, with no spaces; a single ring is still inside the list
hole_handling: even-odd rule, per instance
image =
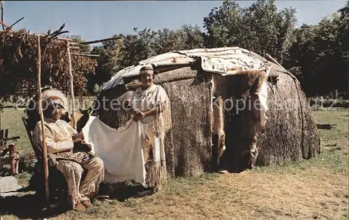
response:
[[[208,47],[243,47],[282,63],[289,57],[295,22],[295,9],[278,11],[274,0],[258,0],[248,8],[224,1],[204,18],[205,39]]]

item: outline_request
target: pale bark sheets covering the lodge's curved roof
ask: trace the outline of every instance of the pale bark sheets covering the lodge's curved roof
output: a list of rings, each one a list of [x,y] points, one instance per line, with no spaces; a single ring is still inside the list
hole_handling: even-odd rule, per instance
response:
[[[112,78],[103,86],[103,91],[124,84],[124,78],[135,77],[144,65],[153,65],[155,69],[162,67],[181,68],[190,66],[200,58],[202,70],[225,74],[229,68],[242,67],[244,70],[265,69],[265,63],[258,55],[240,47],[219,47],[212,49],[191,49],[168,52],[140,61],[112,74]]]

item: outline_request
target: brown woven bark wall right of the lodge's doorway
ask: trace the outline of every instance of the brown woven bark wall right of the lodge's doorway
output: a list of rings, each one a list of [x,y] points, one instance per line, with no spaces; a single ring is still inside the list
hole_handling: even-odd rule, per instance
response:
[[[258,141],[258,164],[271,165],[309,159],[320,153],[320,137],[306,96],[285,70],[274,65],[279,74],[276,86],[268,88],[267,125]]]

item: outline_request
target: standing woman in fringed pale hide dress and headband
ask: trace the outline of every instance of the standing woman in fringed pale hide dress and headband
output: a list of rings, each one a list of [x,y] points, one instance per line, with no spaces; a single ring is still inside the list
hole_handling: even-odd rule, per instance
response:
[[[165,90],[154,84],[151,65],[140,69],[139,80],[142,86],[133,93],[129,113],[141,123],[147,184],[158,191],[167,180],[164,139],[171,127],[170,100]]]

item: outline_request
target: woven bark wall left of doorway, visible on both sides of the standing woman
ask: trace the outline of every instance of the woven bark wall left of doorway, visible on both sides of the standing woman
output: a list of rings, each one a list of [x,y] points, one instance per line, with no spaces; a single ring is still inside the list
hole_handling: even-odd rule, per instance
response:
[[[171,102],[172,134],[166,135],[165,152],[168,174],[199,175],[209,169],[211,163],[211,84],[207,75],[198,75],[190,68],[181,68],[156,74],[156,84],[163,86]],[[124,103],[131,99],[135,88],[117,86],[101,93],[106,106],[110,100]],[[115,102],[115,101],[114,101]],[[126,111],[107,109],[96,112],[99,118],[111,127],[120,127],[129,120]],[[172,136],[172,138],[171,138]],[[173,143],[174,163],[171,163],[170,148]]]

